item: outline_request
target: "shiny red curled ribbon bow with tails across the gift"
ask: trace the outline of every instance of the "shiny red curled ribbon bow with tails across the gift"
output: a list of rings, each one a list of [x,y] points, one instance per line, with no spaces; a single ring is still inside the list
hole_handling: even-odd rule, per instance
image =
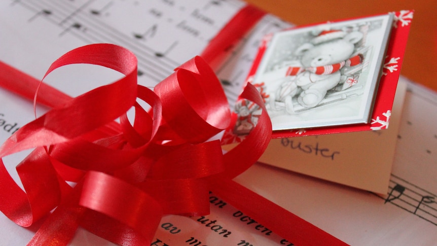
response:
[[[49,215],[29,245],[66,245],[78,226],[118,244],[147,245],[163,214],[209,214],[209,190],[289,241],[344,244],[231,181],[258,160],[271,138],[271,122],[256,88],[248,85],[241,97],[263,108],[259,122],[223,155],[217,140],[205,140],[229,127],[230,111],[220,82],[200,57],[176,68],[154,92],[136,85],[136,58],[122,47],[96,44],[72,50],[47,74],[73,63],[105,66],[125,77],[76,98],[38,95],[54,109],[0,147],[0,158],[35,148],[17,166],[25,192],[0,160],[0,210],[25,227]],[[39,88],[51,90],[45,84]],[[145,111],[136,99],[153,110]],[[126,117],[131,107],[136,111],[133,125]],[[73,115],[74,122],[69,120]],[[77,185],[71,188],[66,181]],[[261,209],[267,206],[269,214]],[[282,228],[277,226],[281,218],[287,219]]]

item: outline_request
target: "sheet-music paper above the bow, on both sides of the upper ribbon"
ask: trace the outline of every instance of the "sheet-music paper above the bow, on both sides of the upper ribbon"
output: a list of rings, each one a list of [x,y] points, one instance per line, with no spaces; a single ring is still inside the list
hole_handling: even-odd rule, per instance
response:
[[[138,84],[153,87],[175,67],[199,55],[242,6],[244,3],[237,0],[3,1],[0,21],[2,33],[8,35],[0,41],[4,47],[14,50],[1,49],[0,57],[42,78],[50,63],[71,49],[92,43],[113,43],[135,53]],[[217,76],[231,104],[240,93],[252,54],[258,49],[258,37],[289,26],[268,15],[253,28],[250,36],[229,51],[230,58],[218,68]],[[32,55],[28,57],[29,54]],[[35,62],[41,66],[35,66]],[[237,62],[239,68],[233,69]],[[55,81],[57,78],[45,82],[58,87]],[[84,83],[77,87],[83,93],[90,85]],[[80,94],[71,89],[66,93]]]

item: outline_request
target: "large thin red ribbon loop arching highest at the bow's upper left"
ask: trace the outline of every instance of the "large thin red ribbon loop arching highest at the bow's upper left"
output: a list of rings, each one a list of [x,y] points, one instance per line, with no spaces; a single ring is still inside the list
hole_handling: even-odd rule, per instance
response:
[[[129,110],[136,100],[137,61],[129,50],[110,44],[106,44],[104,49],[98,44],[83,46],[69,51],[53,62],[44,78],[60,66],[75,63],[101,65],[114,69],[125,77],[78,96],[62,108],[53,109],[45,115],[44,127],[67,138],[76,137],[115,120]]]

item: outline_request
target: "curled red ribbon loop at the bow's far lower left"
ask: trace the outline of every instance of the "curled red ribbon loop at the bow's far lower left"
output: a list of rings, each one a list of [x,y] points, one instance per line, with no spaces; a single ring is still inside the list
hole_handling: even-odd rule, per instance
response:
[[[11,178],[1,159],[0,164],[0,210],[20,226],[29,227],[46,216],[59,204],[61,191],[70,190],[59,182],[43,148],[35,149],[17,166],[26,193]],[[41,190],[44,186],[50,189]]]

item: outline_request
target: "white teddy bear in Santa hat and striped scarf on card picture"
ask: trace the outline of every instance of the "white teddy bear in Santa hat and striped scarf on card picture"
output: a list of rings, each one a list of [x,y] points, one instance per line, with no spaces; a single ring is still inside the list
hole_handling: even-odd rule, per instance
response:
[[[309,43],[300,46],[295,55],[301,57],[301,66],[289,66],[286,76],[295,77],[294,86],[282,85],[280,94],[290,98],[297,95],[298,102],[304,108],[317,106],[328,90],[336,87],[342,80],[341,68],[354,66],[362,62],[362,55],[351,57],[355,44],[363,38],[359,31],[325,30]],[[344,77],[344,76],[343,76]],[[290,90],[290,88],[293,88]],[[284,90],[288,90],[285,92]],[[289,103],[285,103],[287,108]],[[291,111],[287,109],[287,111]]]

